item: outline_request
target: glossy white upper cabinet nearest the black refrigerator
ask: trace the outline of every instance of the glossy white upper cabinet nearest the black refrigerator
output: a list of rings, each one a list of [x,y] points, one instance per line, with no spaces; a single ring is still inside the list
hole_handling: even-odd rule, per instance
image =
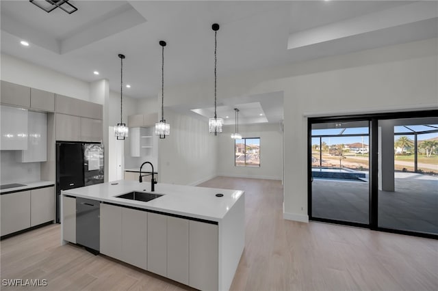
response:
[[[27,150],[17,152],[18,161],[47,161],[47,114],[29,111],[27,129]]]

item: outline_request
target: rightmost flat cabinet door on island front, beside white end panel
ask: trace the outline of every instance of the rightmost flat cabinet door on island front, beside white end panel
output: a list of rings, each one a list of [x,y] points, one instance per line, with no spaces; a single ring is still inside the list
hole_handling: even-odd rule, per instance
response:
[[[218,225],[190,221],[189,286],[218,290]]]

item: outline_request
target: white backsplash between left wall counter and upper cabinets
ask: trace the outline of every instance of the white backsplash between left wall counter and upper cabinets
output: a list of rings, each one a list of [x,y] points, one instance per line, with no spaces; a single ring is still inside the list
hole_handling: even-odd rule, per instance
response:
[[[40,180],[40,163],[18,163],[16,150],[2,150],[0,184]]]

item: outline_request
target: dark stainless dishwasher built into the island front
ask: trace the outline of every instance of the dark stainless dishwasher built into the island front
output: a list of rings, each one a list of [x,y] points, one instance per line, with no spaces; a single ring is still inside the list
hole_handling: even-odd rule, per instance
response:
[[[99,201],[76,198],[76,243],[94,255],[100,246],[100,210]]]

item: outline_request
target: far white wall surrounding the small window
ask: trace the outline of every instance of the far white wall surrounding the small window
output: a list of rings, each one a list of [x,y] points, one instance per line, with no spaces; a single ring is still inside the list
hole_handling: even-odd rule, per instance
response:
[[[242,137],[260,137],[260,167],[235,167],[234,126],[224,126],[218,137],[218,176],[281,180],[283,137],[279,124],[240,125]]]

